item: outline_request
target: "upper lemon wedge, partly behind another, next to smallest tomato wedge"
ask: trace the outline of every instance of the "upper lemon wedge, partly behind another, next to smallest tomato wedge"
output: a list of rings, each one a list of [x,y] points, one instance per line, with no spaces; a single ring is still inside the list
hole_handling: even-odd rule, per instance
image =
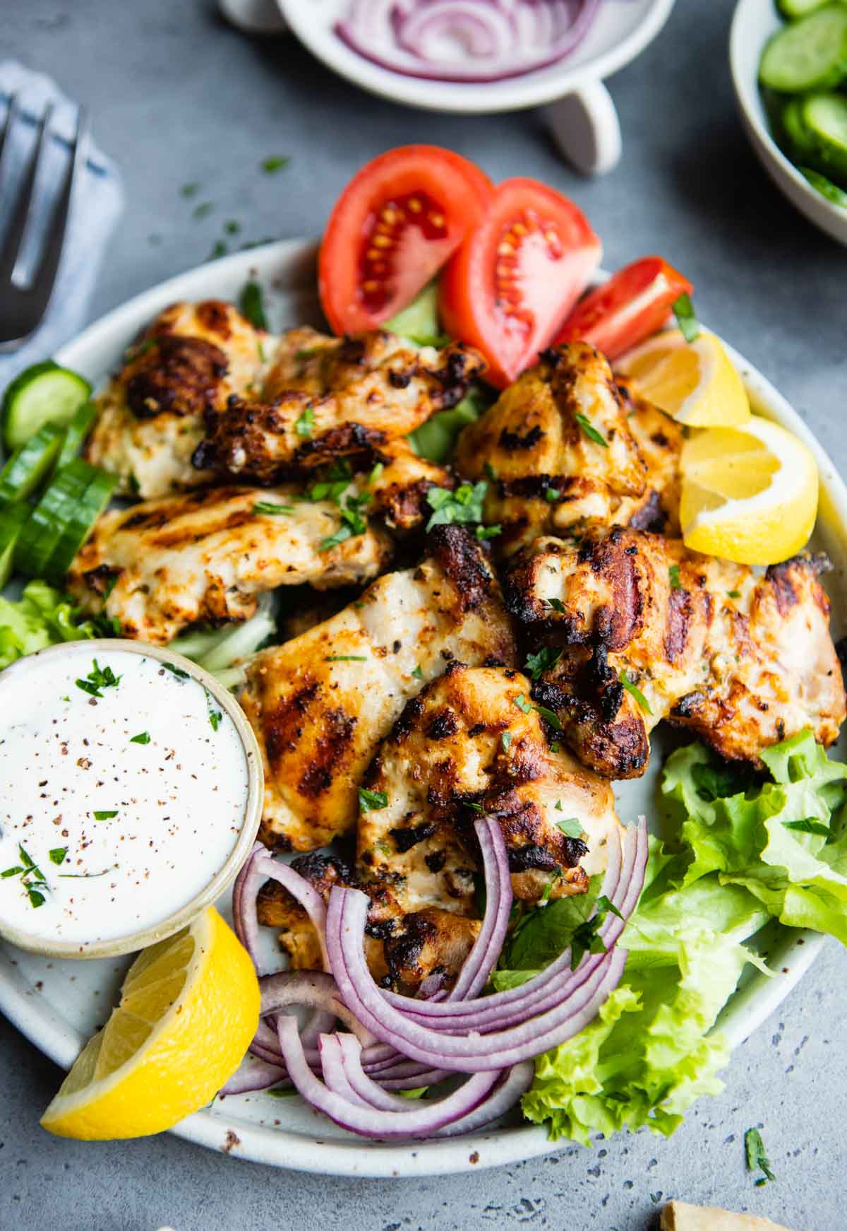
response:
[[[656,334],[616,363],[633,393],[690,427],[736,427],[750,419],[741,377],[723,343],[701,330],[686,342],[679,329]]]

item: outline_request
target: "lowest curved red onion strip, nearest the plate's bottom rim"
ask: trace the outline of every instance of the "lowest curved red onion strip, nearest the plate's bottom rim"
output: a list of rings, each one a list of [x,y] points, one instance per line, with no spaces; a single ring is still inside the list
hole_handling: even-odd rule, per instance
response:
[[[498,1072],[479,1072],[438,1103],[418,1103],[412,1112],[403,1114],[380,1112],[376,1108],[352,1103],[318,1081],[306,1062],[297,1024],[290,1017],[280,1018],[279,1046],[291,1081],[310,1107],[323,1112],[343,1129],[376,1140],[431,1136],[439,1129],[475,1112],[499,1078]]]

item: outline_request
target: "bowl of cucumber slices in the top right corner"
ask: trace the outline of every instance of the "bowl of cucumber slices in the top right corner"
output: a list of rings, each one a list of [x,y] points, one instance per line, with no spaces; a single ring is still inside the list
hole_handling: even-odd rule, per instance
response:
[[[847,0],[739,0],[729,60],[765,170],[847,244]]]

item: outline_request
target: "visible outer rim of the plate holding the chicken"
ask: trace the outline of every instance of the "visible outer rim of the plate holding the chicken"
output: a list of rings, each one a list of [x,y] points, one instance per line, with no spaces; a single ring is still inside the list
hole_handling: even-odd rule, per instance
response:
[[[127,345],[151,315],[177,298],[208,297],[210,282],[227,278],[232,281],[242,276],[245,279],[259,277],[280,289],[284,284],[291,292],[313,289],[313,281],[307,277],[302,282],[299,279],[310,268],[317,246],[313,239],[277,240],[175,275],[106,313],[76,339],[60,347],[55,359],[85,369],[86,353],[111,350],[117,356],[120,346]],[[214,271],[220,271],[218,279]],[[288,281],[284,282],[285,278]],[[783,422],[814,453],[821,476],[821,494],[832,506],[827,521],[835,521],[845,538],[847,559],[847,486],[832,460],[771,382],[731,346],[724,345],[757,403],[757,409]],[[749,1038],[788,996],[815,960],[824,942],[825,937],[815,932],[786,929],[783,948],[790,949],[790,956],[784,958],[784,963],[788,963],[787,972],[772,979],[754,980],[733,997],[729,1020],[722,1025],[733,1048]],[[16,969],[14,952],[12,947],[0,942],[0,1011],[44,1055],[68,1069],[79,1051],[79,1037],[48,1003],[41,1011],[36,1008],[34,988],[27,985]],[[307,1136],[286,1130],[284,1125],[272,1128],[250,1124],[237,1117],[230,1120],[224,1108],[225,1104],[218,1102],[214,1110],[197,1112],[170,1131],[234,1158],[316,1174],[372,1178],[472,1172],[554,1153],[572,1145],[568,1140],[551,1142],[545,1129],[537,1125],[504,1126],[445,1141],[371,1145],[355,1137],[322,1137],[320,1125],[323,1120],[317,1113],[315,1135]]]

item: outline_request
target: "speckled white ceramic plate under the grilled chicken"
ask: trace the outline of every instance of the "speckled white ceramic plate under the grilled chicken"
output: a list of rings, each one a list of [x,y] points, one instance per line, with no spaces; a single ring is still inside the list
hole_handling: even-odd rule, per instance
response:
[[[57,358],[98,383],[118,367],[124,347],[138,330],[175,299],[220,297],[236,299],[248,277],[266,288],[272,326],[320,323],[315,293],[316,247],[289,240],[213,261],[148,291],[104,316]],[[758,410],[797,432],[814,451],[822,481],[817,545],[835,564],[829,576],[833,627],[843,630],[847,613],[847,490],[832,463],[783,398],[739,355],[730,352]],[[671,736],[672,739],[672,736]],[[623,820],[655,814],[654,792],[666,746],[654,739],[652,769],[638,780],[617,783]],[[229,902],[220,904],[229,915]],[[729,1002],[722,1027],[733,1044],[741,1043],[788,995],[817,953],[813,933],[771,927],[757,945],[777,974],[767,979],[747,968],[747,977]],[[0,943],[0,1009],[36,1046],[69,1067],[84,1041],[103,1024],[114,1003],[127,961],[63,961],[38,958]],[[37,1108],[27,1108],[37,1115]],[[247,1094],[216,1102],[183,1120],[175,1130],[189,1141],[240,1158],[336,1176],[420,1176],[471,1171],[511,1163],[554,1147],[542,1129],[519,1117],[486,1133],[451,1141],[379,1145],[364,1141],[311,1112],[297,1097]],[[567,1145],[567,1142],[564,1142]]]

